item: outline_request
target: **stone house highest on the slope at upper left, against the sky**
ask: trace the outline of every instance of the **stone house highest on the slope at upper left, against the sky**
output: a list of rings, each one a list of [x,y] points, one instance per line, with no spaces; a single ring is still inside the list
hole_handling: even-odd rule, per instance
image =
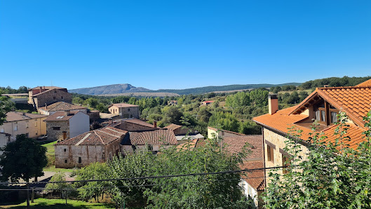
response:
[[[28,91],[28,103],[32,104],[36,109],[55,102],[72,103],[72,96],[68,93],[67,88],[38,86],[30,88]]]

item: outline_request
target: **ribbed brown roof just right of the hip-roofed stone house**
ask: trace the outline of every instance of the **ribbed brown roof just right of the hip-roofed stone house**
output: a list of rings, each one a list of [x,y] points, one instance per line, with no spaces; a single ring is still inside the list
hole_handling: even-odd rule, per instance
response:
[[[177,145],[177,139],[171,130],[148,130],[129,132],[121,142],[123,145]]]

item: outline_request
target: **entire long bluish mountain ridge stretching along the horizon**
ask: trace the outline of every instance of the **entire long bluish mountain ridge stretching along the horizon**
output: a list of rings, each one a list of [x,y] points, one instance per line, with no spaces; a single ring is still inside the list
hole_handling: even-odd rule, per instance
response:
[[[228,85],[228,86],[205,86],[199,88],[186,88],[186,89],[159,89],[149,90],[148,88],[135,87],[130,84],[113,84],[108,86],[96,86],[91,88],[76,88],[68,90],[69,93],[79,93],[84,95],[116,95],[123,93],[175,93],[178,95],[198,95],[210,92],[221,92],[231,90],[243,90],[252,88],[270,88],[272,86],[286,86],[294,85],[299,86],[302,83],[282,83],[282,84],[245,84],[245,85]]]

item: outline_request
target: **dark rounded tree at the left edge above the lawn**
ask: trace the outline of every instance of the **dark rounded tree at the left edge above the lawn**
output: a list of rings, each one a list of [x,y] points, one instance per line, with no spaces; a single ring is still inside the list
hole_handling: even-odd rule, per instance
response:
[[[43,176],[43,168],[48,164],[46,147],[26,135],[17,135],[17,140],[1,148],[4,153],[0,156],[1,177],[29,182],[32,177]]]

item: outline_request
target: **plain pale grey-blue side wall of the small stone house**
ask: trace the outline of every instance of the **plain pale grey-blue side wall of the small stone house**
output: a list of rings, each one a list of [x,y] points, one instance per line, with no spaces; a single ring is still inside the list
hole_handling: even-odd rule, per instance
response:
[[[89,116],[83,112],[77,112],[69,119],[69,137],[76,137],[90,130]]]

